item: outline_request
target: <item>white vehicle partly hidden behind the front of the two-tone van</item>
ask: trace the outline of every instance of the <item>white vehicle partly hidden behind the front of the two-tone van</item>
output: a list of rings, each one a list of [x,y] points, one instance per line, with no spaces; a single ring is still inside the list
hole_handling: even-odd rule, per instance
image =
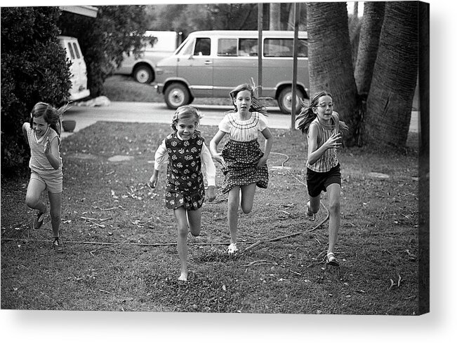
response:
[[[124,59],[114,73],[131,75],[139,83],[154,81],[157,62],[173,54],[178,46],[178,34],[174,31],[145,31],[145,36],[156,37],[156,43],[152,46],[147,43],[139,58],[135,58],[132,52],[130,55],[124,52]]]

